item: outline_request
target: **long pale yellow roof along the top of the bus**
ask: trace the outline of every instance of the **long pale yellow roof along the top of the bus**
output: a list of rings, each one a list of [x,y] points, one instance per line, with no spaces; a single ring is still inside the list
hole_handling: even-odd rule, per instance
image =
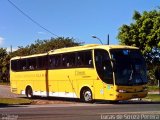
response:
[[[132,47],[132,46],[126,46],[126,45],[100,45],[100,44],[87,44],[87,45],[82,45],[82,46],[75,46],[75,47],[66,47],[66,48],[60,48],[60,49],[55,49],[51,50],[48,53],[43,53],[43,54],[34,54],[34,55],[28,55],[28,56],[17,56],[13,57],[13,59],[21,59],[21,58],[29,58],[29,57],[38,57],[38,56],[44,56],[47,54],[56,54],[56,53],[65,53],[65,52],[76,52],[80,50],[88,50],[88,49],[93,49],[93,48],[101,48],[101,49],[138,49],[137,47]]]

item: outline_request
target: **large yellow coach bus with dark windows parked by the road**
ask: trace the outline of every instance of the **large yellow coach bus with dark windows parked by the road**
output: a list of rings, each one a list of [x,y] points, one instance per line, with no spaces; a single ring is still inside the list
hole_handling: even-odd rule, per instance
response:
[[[147,96],[146,64],[136,47],[89,44],[14,57],[11,91],[16,94],[93,100]]]

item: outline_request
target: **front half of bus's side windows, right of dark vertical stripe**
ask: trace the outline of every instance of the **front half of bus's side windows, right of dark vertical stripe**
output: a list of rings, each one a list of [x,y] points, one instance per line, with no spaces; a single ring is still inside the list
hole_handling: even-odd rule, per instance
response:
[[[49,56],[50,69],[78,67],[93,67],[91,50]]]

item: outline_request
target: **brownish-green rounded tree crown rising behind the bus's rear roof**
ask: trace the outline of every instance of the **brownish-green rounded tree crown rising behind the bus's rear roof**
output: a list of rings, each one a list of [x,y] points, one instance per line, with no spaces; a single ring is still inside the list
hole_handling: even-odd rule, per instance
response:
[[[19,47],[19,49],[12,53],[12,56],[24,56],[45,53],[50,50],[73,47],[81,45],[81,43],[75,42],[73,38],[51,38],[50,40],[37,40],[34,44],[27,45],[26,47]]]

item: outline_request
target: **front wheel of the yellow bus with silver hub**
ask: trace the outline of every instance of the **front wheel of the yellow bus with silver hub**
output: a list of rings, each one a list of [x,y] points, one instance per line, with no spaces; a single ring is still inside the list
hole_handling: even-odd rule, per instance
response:
[[[93,101],[92,92],[89,88],[85,88],[82,91],[82,100],[83,102],[86,102],[86,103],[91,103]]]

